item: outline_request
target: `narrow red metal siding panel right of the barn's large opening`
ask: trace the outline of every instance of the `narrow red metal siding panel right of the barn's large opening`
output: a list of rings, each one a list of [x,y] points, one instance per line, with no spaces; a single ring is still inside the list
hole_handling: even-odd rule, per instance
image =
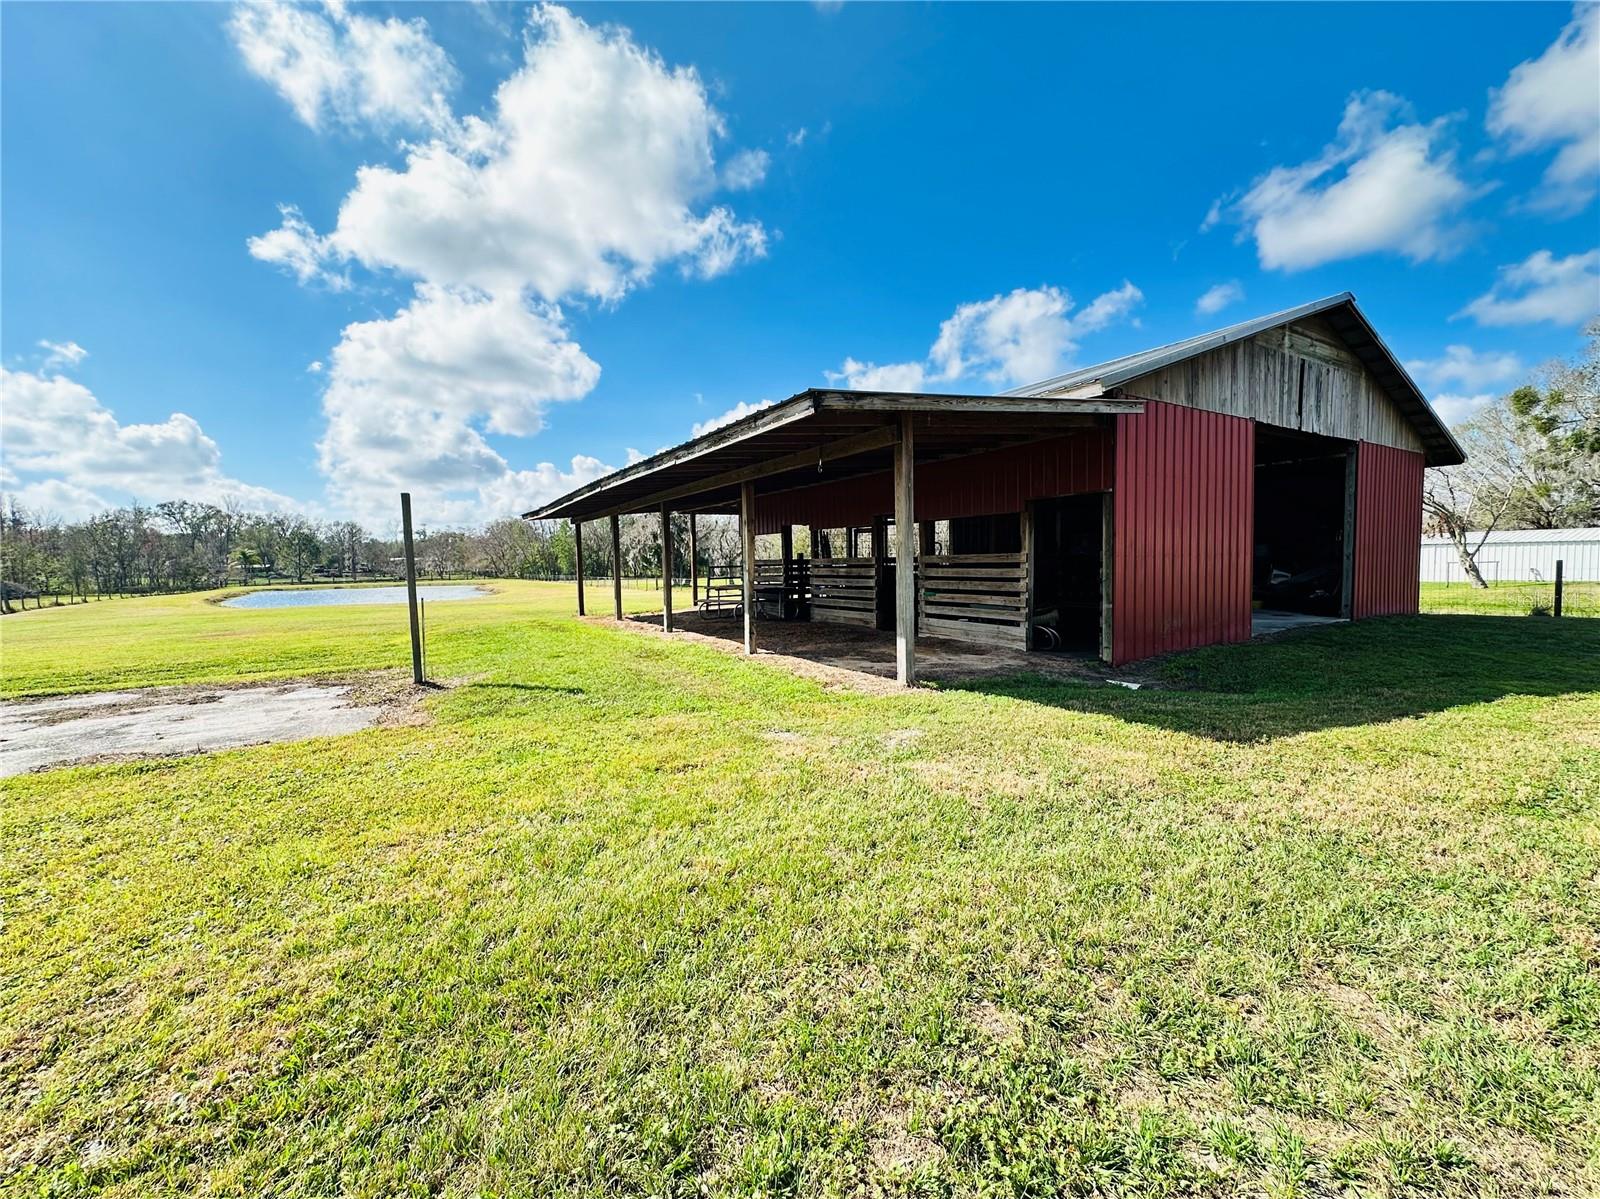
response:
[[[1422,469],[1411,450],[1373,442],[1355,450],[1355,620],[1416,612]]]

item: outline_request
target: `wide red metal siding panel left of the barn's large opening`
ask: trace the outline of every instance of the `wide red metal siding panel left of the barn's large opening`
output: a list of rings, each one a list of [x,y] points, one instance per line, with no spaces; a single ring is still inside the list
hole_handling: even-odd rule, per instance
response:
[[[1250,639],[1254,467],[1240,416],[1146,402],[1117,418],[1114,663]]]

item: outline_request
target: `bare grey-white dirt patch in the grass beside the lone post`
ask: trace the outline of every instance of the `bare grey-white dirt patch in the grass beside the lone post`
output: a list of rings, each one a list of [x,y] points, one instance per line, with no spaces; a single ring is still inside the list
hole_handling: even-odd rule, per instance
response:
[[[0,776],[302,741],[414,719],[419,709],[410,688],[387,676],[16,700],[0,704]]]

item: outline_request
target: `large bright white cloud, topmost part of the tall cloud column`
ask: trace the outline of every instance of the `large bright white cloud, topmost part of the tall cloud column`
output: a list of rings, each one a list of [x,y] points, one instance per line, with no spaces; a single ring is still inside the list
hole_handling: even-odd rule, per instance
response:
[[[546,299],[618,299],[672,259],[715,275],[766,253],[758,223],[694,211],[718,186],[722,134],[694,70],[536,8],[490,118],[413,146],[402,170],[363,166],[325,245],[371,269]]]

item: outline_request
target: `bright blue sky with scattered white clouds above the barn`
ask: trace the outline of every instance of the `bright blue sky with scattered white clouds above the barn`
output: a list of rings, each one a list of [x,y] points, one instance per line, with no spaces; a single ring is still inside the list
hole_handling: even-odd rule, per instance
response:
[[[0,487],[470,523],[1346,290],[1462,416],[1600,311],[1597,11],[6,5]]]

